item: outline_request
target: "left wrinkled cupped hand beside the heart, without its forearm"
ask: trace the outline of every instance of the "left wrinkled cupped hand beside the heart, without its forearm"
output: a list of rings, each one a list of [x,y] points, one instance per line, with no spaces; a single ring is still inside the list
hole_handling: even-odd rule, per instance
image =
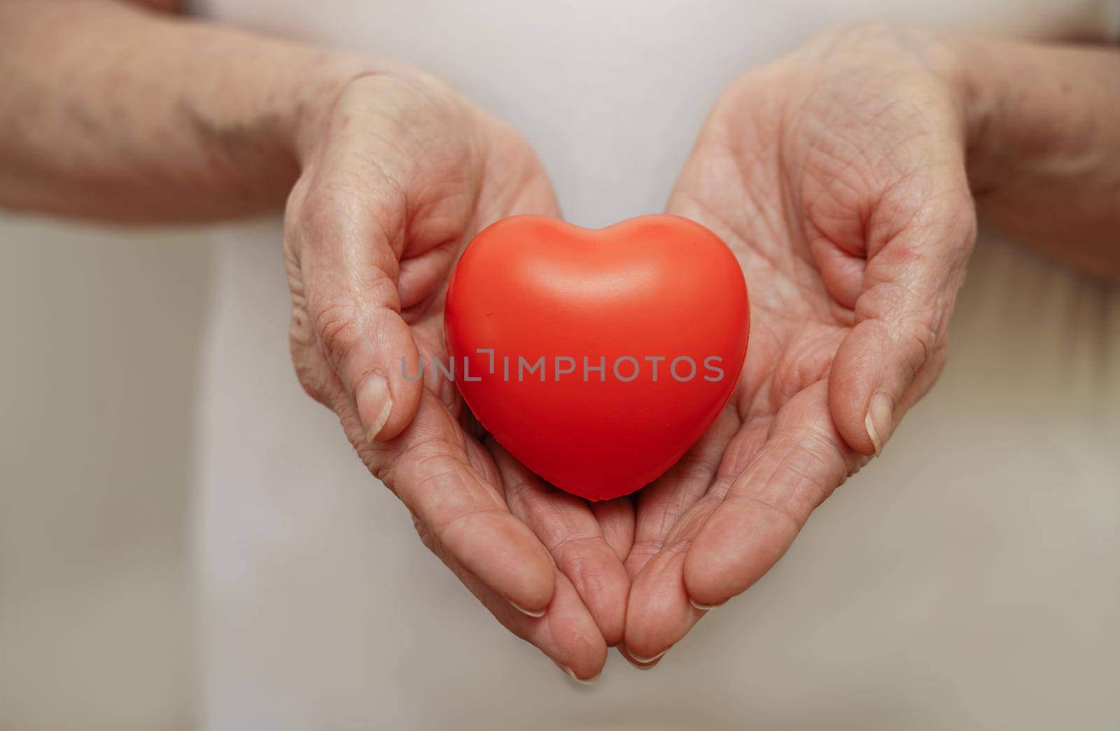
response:
[[[597,675],[623,636],[631,504],[592,513],[480,443],[433,366],[447,364],[460,250],[501,217],[558,215],[540,163],[508,128],[400,67],[353,76],[298,137],[284,253],[300,383],[503,625],[573,677]]]

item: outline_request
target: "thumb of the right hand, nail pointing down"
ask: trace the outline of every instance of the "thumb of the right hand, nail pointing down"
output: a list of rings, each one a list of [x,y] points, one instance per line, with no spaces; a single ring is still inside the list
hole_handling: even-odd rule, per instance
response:
[[[905,219],[898,233],[880,225],[885,243],[868,246],[856,326],[829,376],[832,416],[862,454],[880,453],[903,413],[933,385],[976,237],[972,199],[960,181]]]

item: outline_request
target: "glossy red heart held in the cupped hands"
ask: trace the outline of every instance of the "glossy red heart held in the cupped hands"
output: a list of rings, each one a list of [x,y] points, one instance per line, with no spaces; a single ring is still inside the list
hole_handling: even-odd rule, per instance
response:
[[[514,216],[463,253],[444,326],[483,427],[557,487],[603,500],[655,479],[716,419],[749,306],[735,255],[688,218],[591,231]]]

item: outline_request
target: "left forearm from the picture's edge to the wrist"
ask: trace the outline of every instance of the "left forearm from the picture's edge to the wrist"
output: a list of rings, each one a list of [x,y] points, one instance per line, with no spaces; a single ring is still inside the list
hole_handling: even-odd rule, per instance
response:
[[[356,60],[103,0],[0,0],[0,205],[198,221],[283,203]]]

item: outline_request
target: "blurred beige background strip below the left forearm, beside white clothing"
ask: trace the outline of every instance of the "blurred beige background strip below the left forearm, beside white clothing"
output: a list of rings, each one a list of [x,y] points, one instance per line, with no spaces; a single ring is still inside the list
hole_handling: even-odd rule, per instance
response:
[[[0,729],[192,727],[203,232],[0,214]]]

